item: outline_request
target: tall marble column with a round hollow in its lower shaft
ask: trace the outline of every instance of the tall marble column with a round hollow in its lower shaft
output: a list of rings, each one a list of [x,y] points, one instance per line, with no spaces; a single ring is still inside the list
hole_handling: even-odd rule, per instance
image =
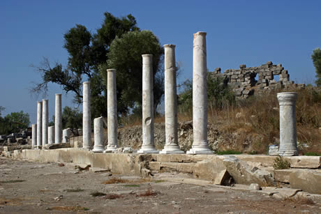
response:
[[[137,153],[158,153],[154,145],[153,55],[142,55],[142,148]]]

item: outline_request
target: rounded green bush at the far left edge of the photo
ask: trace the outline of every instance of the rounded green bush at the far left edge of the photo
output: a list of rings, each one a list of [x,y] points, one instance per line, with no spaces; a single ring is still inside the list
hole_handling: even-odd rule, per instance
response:
[[[24,112],[12,112],[7,114],[4,118],[0,116],[0,133],[2,135],[9,135],[13,132],[29,127],[29,114]]]

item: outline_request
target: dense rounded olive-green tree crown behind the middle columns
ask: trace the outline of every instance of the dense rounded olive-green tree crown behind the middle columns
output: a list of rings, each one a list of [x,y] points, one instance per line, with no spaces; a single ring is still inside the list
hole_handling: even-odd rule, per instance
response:
[[[117,108],[127,114],[135,106],[142,104],[142,54],[153,55],[154,109],[164,93],[163,47],[151,31],[130,31],[115,38],[107,54],[107,62],[100,66],[100,73],[106,84],[106,69],[117,69]]]

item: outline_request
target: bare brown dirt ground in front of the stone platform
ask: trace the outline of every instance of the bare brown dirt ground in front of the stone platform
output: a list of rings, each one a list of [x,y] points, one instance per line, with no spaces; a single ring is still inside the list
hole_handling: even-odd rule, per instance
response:
[[[321,213],[321,201],[1,157],[0,213]]]

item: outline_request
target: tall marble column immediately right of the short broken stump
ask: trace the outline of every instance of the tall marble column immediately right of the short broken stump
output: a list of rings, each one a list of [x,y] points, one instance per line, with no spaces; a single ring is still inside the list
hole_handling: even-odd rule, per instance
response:
[[[117,95],[116,70],[107,69],[107,128],[108,144],[106,152],[117,148]]]

